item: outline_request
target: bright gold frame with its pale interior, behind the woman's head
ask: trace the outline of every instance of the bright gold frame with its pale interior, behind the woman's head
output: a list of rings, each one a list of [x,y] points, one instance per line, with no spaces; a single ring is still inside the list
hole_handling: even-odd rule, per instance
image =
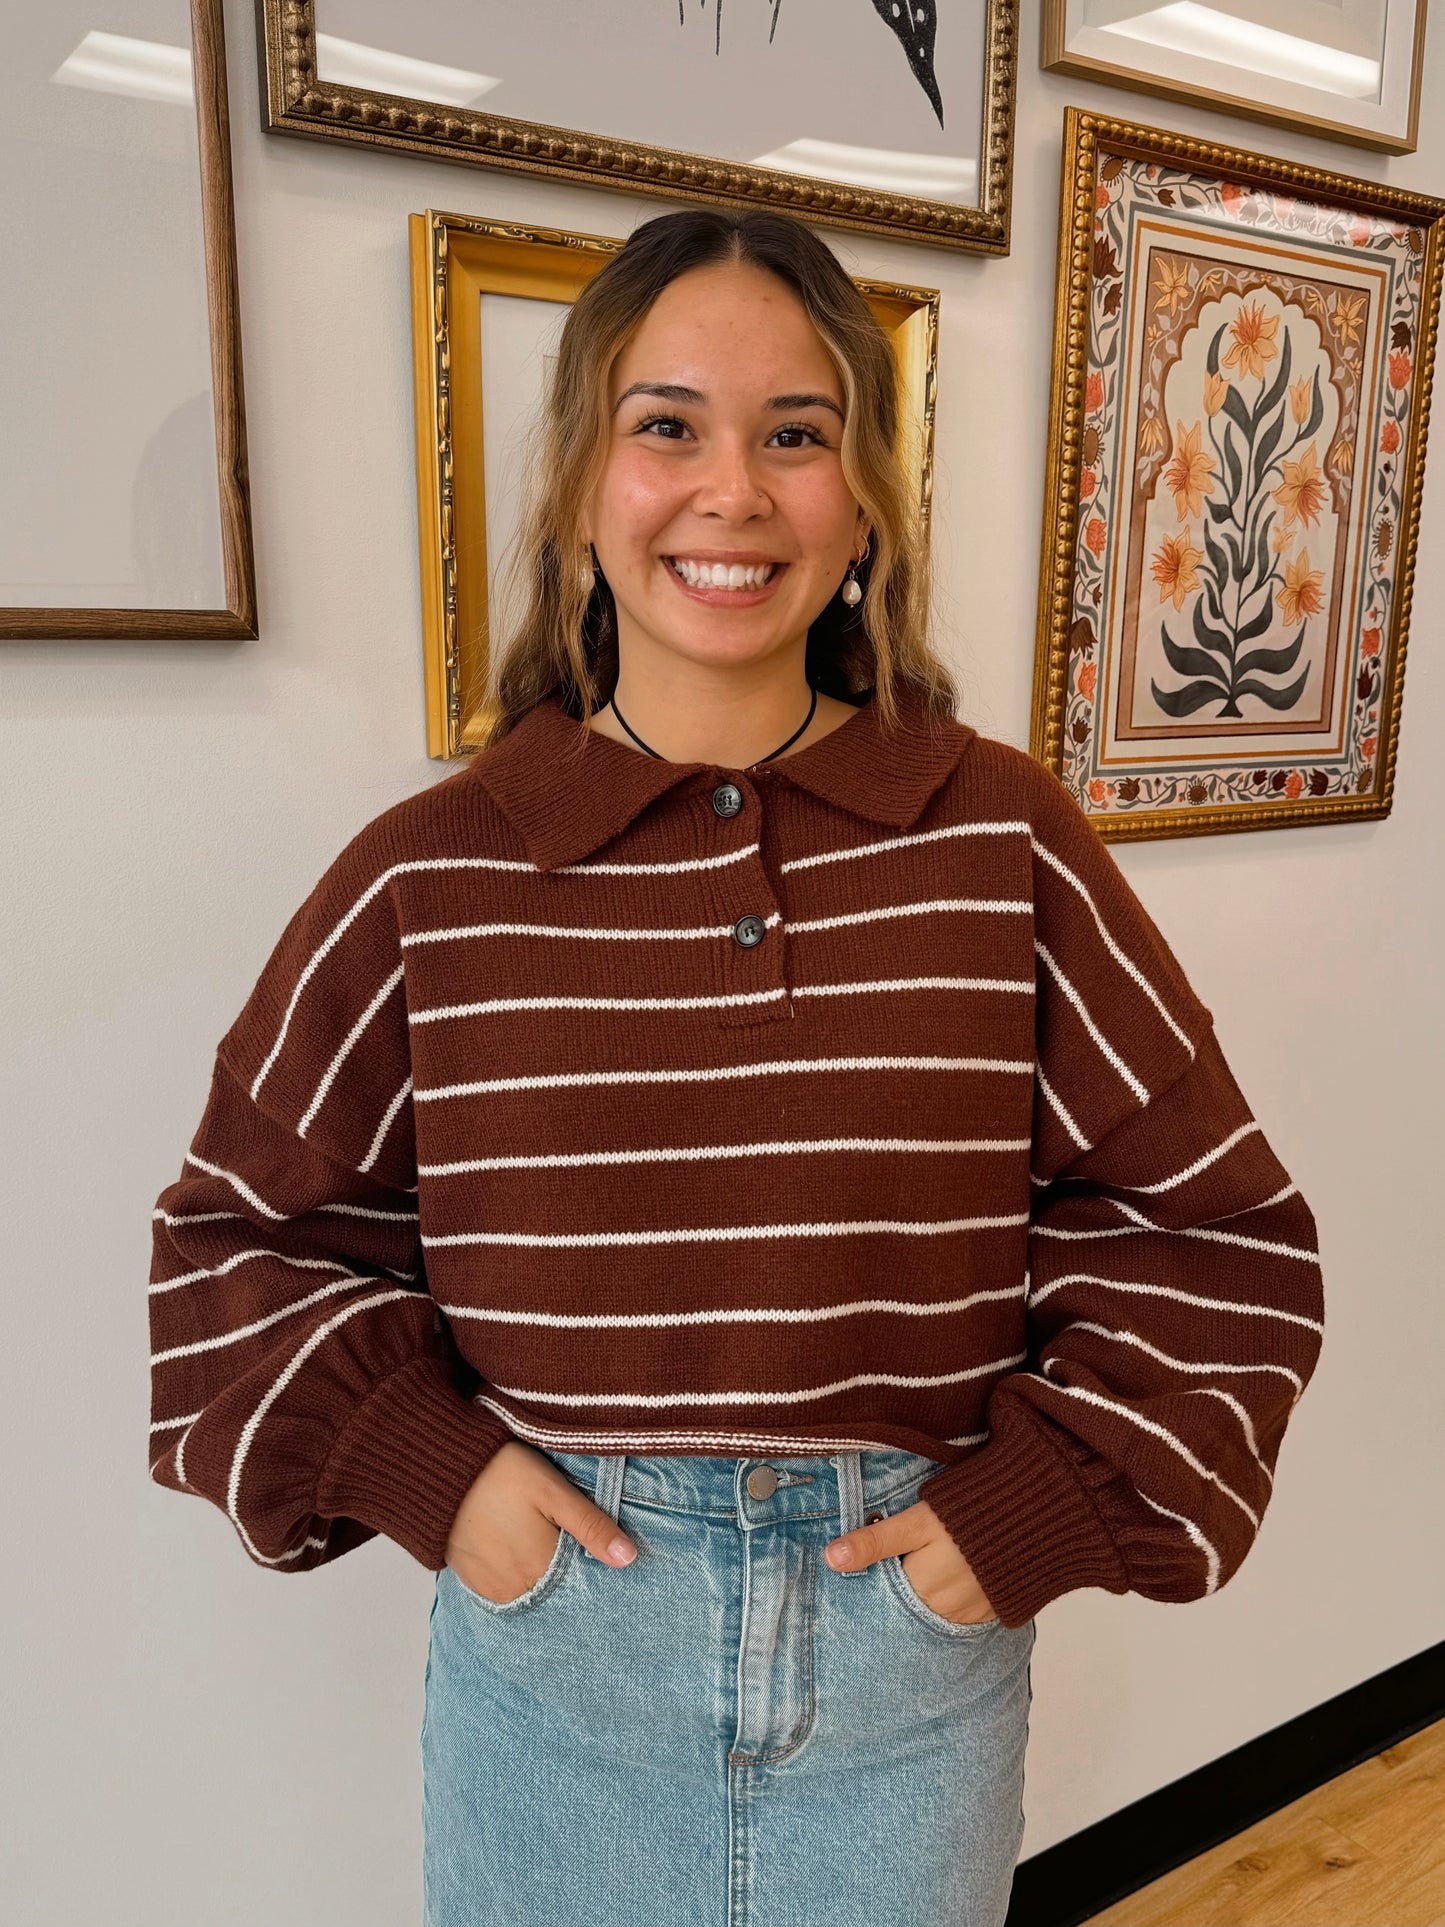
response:
[[[520,503],[528,430],[555,335],[624,237],[428,208],[410,216],[416,526],[426,748],[466,757],[486,734],[497,567]],[[927,534],[938,378],[938,289],[854,277],[894,349],[904,461]],[[505,620],[505,611],[501,613]]]

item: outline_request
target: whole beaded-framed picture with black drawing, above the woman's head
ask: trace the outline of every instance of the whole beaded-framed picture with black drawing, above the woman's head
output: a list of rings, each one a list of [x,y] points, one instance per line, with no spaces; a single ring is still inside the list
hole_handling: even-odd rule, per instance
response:
[[[1017,0],[256,0],[262,121],[1006,254]]]

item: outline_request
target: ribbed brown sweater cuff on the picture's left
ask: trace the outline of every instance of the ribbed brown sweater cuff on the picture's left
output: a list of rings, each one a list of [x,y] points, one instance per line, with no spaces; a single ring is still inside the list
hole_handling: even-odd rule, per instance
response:
[[[439,1572],[472,1480],[511,1438],[455,1389],[447,1360],[428,1353],[356,1407],[322,1468],[316,1509],[385,1532]]]

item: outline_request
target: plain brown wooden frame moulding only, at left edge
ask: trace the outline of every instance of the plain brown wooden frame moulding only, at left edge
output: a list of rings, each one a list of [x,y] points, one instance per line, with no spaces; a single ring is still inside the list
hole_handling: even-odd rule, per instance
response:
[[[258,634],[222,0],[191,0],[191,73],[197,98],[200,225],[206,264],[206,308],[210,318],[210,385],[216,420],[216,484],[220,489],[225,607],[0,607],[0,638],[67,636],[73,640],[116,638],[125,642],[252,642]]]

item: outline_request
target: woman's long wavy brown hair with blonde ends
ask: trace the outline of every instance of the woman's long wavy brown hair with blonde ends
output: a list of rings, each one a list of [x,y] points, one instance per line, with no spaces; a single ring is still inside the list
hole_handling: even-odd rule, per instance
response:
[[[844,701],[873,692],[884,726],[898,721],[900,684],[923,696],[929,717],[956,713],[954,674],[931,644],[929,557],[917,482],[902,459],[886,333],[803,222],[771,210],[686,208],[636,227],[568,308],[524,445],[520,516],[497,597],[503,640],[486,688],[462,692],[482,748],[547,696],[586,721],[617,686],[617,603],[593,574],[582,532],[582,507],[607,462],[611,370],[661,291],[713,262],[746,262],[786,283],[844,387],[842,470],[871,538],[855,570],[861,603],[850,607],[834,592],[807,632],[807,680]]]

